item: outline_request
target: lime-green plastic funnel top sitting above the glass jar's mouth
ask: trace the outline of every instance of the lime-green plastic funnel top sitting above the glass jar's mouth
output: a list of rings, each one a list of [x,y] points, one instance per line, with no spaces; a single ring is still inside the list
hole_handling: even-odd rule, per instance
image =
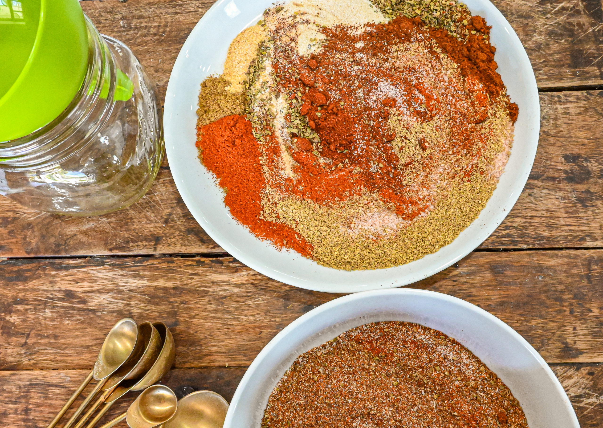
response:
[[[78,0],[0,0],[0,142],[31,134],[74,99],[88,36]]]

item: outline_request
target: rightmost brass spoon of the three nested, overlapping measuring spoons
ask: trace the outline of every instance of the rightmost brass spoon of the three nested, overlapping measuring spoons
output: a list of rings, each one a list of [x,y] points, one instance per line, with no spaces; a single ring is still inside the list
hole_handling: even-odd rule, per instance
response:
[[[153,323],[153,327],[159,332],[162,347],[159,353],[159,356],[154,361],[153,366],[144,374],[141,374],[140,377],[123,380],[115,390],[113,390],[112,394],[109,395],[105,400],[104,408],[96,415],[96,417],[90,421],[86,428],[92,428],[98,423],[99,420],[104,416],[104,414],[109,411],[113,403],[121,398],[128,391],[141,391],[142,389],[148,388],[153,385],[153,383],[157,382],[166,373],[168,373],[169,369],[174,364],[175,357],[175,345],[174,345],[174,337],[172,333],[169,331],[168,326],[164,323]]]

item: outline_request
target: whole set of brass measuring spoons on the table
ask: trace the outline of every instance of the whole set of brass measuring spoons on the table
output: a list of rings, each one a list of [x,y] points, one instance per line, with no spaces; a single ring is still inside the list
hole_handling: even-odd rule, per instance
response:
[[[197,391],[178,401],[167,386],[153,385],[168,373],[174,356],[174,338],[165,324],[148,321],[136,324],[131,318],[119,320],[105,338],[94,368],[48,428],[57,425],[92,379],[97,381],[96,385],[63,428],[93,428],[126,392],[143,389],[127,412],[102,428],[124,419],[130,428],[221,428],[228,403],[220,395]]]

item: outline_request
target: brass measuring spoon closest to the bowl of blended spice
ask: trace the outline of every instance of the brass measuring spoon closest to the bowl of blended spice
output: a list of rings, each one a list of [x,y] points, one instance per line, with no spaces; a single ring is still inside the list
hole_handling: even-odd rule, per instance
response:
[[[228,401],[213,391],[192,392],[178,401],[174,417],[160,428],[222,428]]]

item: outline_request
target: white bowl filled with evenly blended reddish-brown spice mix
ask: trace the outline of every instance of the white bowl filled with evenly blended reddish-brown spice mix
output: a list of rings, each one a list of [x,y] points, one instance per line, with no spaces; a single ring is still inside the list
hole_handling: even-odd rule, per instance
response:
[[[500,319],[418,289],[317,307],[251,363],[224,428],[578,428],[545,360]]]

